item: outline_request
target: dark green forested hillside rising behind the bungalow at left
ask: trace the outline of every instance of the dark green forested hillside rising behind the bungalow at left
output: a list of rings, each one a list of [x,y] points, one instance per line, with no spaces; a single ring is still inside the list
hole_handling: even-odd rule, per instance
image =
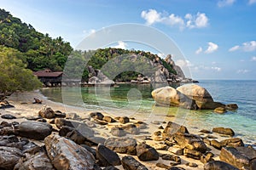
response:
[[[61,71],[73,50],[62,37],[44,35],[4,9],[0,9],[0,45],[23,53],[27,68],[32,71],[45,68]]]

